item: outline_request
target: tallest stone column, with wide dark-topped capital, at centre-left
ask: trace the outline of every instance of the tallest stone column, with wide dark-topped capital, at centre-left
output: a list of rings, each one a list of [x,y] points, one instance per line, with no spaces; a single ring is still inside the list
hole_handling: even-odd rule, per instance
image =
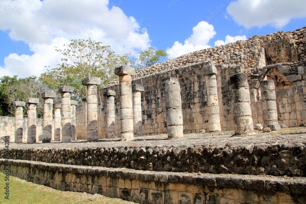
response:
[[[134,139],[132,76],[135,76],[135,68],[127,66],[117,67],[115,74],[119,76],[120,137],[121,141],[130,141]]]

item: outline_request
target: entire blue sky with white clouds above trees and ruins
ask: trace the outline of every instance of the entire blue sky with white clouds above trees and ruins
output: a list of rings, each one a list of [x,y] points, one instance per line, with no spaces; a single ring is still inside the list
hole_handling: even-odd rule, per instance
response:
[[[304,0],[1,0],[0,76],[39,76],[61,62],[54,46],[71,39],[91,37],[134,57],[153,46],[174,58],[302,28],[304,8]]]

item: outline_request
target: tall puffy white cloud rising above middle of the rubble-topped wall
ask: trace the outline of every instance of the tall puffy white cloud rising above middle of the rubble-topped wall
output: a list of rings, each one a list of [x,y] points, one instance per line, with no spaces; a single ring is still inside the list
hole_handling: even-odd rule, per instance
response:
[[[169,54],[169,59],[211,47],[208,45],[208,42],[217,34],[214,26],[206,21],[198,23],[192,28],[192,31],[192,35],[185,40],[184,45],[176,41],[171,48],[167,48],[166,52]]]

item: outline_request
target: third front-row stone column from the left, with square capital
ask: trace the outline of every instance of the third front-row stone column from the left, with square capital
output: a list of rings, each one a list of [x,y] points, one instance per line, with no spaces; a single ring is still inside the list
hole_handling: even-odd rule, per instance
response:
[[[55,92],[44,92],[41,94],[43,98],[43,143],[50,143],[52,137],[52,109],[53,98],[56,97]]]

